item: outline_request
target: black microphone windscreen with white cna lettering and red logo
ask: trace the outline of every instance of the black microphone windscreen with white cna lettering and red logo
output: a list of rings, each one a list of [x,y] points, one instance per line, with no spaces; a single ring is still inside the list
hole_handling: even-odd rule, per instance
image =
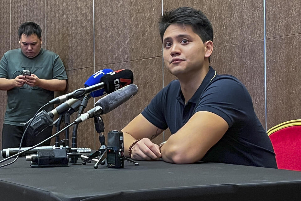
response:
[[[103,75],[100,78],[105,83],[104,90],[107,94],[112,93],[124,86],[133,84],[134,75],[129,69],[122,69]]]

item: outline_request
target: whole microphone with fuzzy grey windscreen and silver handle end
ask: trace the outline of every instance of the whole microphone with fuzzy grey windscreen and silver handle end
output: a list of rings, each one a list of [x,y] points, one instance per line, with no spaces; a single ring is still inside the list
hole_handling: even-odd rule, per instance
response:
[[[82,114],[75,120],[75,122],[80,123],[96,115],[106,114],[123,104],[125,101],[132,98],[134,95],[137,94],[137,92],[138,87],[135,84],[130,84],[119,90],[116,90],[113,93],[110,93],[104,96],[103,98],[99,99],[95,103],[95,107]]]

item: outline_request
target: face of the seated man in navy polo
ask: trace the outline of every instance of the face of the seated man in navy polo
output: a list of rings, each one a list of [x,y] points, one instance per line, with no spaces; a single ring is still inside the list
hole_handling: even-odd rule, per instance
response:
[[[167,70],[178,78],[202,69],[205,50],[202,39],[193,32],[191,25],[171,24],[164,32],[164,63]]]

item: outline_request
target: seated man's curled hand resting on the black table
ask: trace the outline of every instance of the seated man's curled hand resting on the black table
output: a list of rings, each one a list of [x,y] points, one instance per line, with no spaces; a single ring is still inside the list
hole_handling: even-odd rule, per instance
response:
[[[133,160],[159,160],[161,158],[160,148],[148,138],[139,140],[131,149]]]

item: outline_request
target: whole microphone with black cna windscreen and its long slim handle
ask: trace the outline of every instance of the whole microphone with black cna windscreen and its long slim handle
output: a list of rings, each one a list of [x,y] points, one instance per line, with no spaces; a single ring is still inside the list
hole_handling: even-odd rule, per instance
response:
[[[70,98],[80,98],[85,96],[87,93],[93,91],[104,89],[107,94],[112,93],[126,85],[132,84],[134,80],[133,72],[129,69],[122,69],[118,71],[113,71],[111,73],[105,74],[101,77],[101,82],[88,86],[86,88],[81,88],[74,90],[71,93],[61,95],[49,101],[50,104],[62,103]]]

